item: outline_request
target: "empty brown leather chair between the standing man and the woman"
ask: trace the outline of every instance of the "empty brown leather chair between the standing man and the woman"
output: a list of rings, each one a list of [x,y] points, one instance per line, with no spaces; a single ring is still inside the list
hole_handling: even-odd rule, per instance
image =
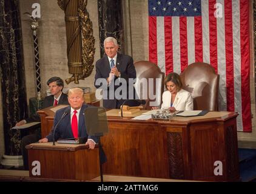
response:
[[[152,106],[160,106],[164,90],[164,73],[156,64],[149,61],[138,61],[134,65],[136,69],[134,86],[138,98],[146,101],[144,108],[150,110]],[[149,80],[149,78],[153,79]],[[152,99],[153,95],[155,98]]]

